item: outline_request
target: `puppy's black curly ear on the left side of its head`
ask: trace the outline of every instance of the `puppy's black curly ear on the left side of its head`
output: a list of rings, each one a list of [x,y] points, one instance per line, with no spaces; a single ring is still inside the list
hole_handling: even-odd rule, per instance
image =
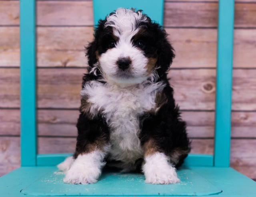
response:
[[[96,53],[100,44],[100,33],[104,30],[105,22],[106,20],[99,20],[98,25],[94,30],[94,39],[86,47],[86,56],[90,67],[93,67],[93,65],[98,61]]]

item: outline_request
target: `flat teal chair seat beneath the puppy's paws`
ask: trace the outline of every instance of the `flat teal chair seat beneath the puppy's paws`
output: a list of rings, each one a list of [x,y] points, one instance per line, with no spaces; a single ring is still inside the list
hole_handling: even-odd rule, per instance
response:
[[[194,176],[193,174],[196,174]],[[91,191],[92,193],[88,193],[89,196],[95,196],[94,192],[91,190],[93,187],[96,189],[97,187],[102,187],[103,189],[96,191],[106,191],[106,193],[110,193],[110,196],[117,196],[114,193],[118,193],[122,191],[122,188],[117,187],[118,183],[120,183],[121,187],[125,187],[124,189],[128,190],[129,193],[124,196],[134,196],[135,192],[139,192],[139,189],[145,190],[146,188],[153,187],[154,189],[158,189],[156,187],[159,186],[161,191],[160,195],[163,195],[167,189],[166,188],[175,188],[174,192],[172,189],[169,189],[165,194],[167,196],[180,196],[177,195],[177,191],[181,191],[184,194],[186,190],[191,192],[194,181],[195,184],[198,184],[197,180],[194,180],[195,177],[199,177],[198,179],[206,180],[207,185],[211,183],[213,188],[217,188],[217,191],[222,191],[217,195],[211,195],[212,197],[255,197],[256,194],[256,183],[249,179],[248,177],[238,173],[234,169],[230,167],[189,167],[184,168],[178,171],[178,175],[180,175],[182,183],[186,185],[182,185],[182,183],[176,185],[150,185],[143,183],[144,177],[140,174],[104,174],[100,178],[100,184],[92,184],[92,185],[68,185],[62,182],[63,175],[58,172],[56,167],[20,167],[8,173],[2,177],[0,177],[0,191],[1,196],[4,197],[21,197],[24,196],[24,193],[33,193],[36,195],[36,192],[40,192],[41,195],[52,195],[52,196],[64,196],[64,193],[74,192],[73,196],[81,196],[79,193]],[[114,179],[114,177],[119,177],[118,179]],[[120,177],[121,176],[121,177]],[[127,178],[127,179],[126,179]],[[192,180],[192,181],[189,181]],[[200,181],[199,180],[199,181]],[[40,182],[39,182],[40,181]],[[120,182],[119,182],[120,181]],[[134,193],[132,193],[132,187],[130,187],[129,181],[132,181],[132,187],[135,187]],[[189,183],[191,182],[191,183]],[[39,183],[39,184],[38,184]],[[41,185],[42,183],[42,185]],[[127,184],[125,184],[127,183]],[[137,186],[136,186],[137,185]],[[207,186],[206,185],[206,186]],[[108,186],[108,187],[106,187]],[[186,186],[186,187],[185,187]],[[49,188],[50,187],[50,188]],[[114,187],[114,189],[113,189]],[[200,186],[204,189],[204,183],[200,183]],[[208,186],[207,186],[208,187]],[[181,189],[183,188],[183,190]],[[199,189],[201,189],[199,188]],[[210,190],[208,193],[212,192],[212,187],[208,187]],[[51,189],[51,190],[49,190]],[[77,190],[76,190],[77,189]],[[129,190],[130,189],[130,190]],[[214,190],[215,190],[214,189]],[[109,191],[110,190],[110,191]],[[150,189],[151,190],[151,189]],[[56,192],[58,191],[58,192]],[[75,193],[77,191],[77,193]],[[95,190],[94,190],[95,191]],[[151,190],[152,191],[152,190]],[[157,190],[156,190],[157,191]],[[159,191],[159,189],[158,189]],[[202,191],[202,190],[201,190]],[[152,191],[155,192],[155,191]],[[180,193],[180,194],[181,194]],[[187,193],[188,194],[191,193]],[[26,195],[28,197],[35,195]],[[193,196],[199,195],[199,193],[194,193]],[[71,195],[67,195],[71,196]],[[141,194],[140,196],[149,196],[147,193]],[[158,193],[155,193],[152,196],[159,196]],[[202,197],[206,197],[209,195],[202,195]]]

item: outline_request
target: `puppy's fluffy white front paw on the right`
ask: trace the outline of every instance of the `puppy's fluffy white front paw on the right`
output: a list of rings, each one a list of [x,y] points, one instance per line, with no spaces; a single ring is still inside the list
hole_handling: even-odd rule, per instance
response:
[[[164,153],[156,152],[145,156],[144,160],[145,183],[174,184],[180,182],[175,167],[168,162],[168,157]]]

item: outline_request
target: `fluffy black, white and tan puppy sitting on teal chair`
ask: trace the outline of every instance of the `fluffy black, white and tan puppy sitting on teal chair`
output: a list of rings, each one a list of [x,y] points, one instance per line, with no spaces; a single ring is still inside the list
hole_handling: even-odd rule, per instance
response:
[[[119,8],[100,20],[87,47],[74,156],[58,165],[64,182],[95,183],[105,165],[140,169],[146,183],[179,182],[190,151],[167,79],[174,49],[141,10]]]

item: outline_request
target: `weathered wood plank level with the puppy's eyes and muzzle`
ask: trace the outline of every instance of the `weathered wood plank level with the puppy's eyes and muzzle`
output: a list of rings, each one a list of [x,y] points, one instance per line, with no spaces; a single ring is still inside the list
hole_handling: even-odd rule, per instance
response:
[[[173,68],[216,67],[215,29],[167,28],[176,51]],[[92,27],[39,27],[37,62],[39,67],[84,67],[84,45],[92,40]],[[19,28],[0,27],[0,67],[19,66]],[[74,36],[75,35],[75,36]],[[234,67],[254,67],[256,29],[234,31]]]

